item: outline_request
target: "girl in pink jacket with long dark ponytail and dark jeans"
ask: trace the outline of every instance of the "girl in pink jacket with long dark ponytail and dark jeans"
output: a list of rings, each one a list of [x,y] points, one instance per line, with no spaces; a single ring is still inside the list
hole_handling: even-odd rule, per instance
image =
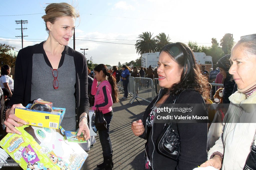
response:
[[[95,101],[92,109],[96,110],[96,108],[99,108],[107,122],[107,130],[99,130],[104,161],[97,165],[97,167],[110,170],[113,167],[113,150],[109,136],[109,126],[113,117],[112,105],[113,103],[119,102],[118,87],[115,77],[108,72],[108,68],[104,64],[96,66],[94,68],[94,74],[91,94],[94,95]],[[99,86],[98,82],[101,82]]]

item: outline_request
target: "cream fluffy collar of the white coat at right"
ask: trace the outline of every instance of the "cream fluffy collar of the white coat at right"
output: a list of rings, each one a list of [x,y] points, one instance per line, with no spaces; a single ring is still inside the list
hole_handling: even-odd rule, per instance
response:
[[[242,107],[246,112],[251,112],[251,108],[248,108],[248,104],[256,103],[256,91],[254,91],[248,98],[246,98],[245,94],[236,91],[229,97],[229,101],[239,107]]]

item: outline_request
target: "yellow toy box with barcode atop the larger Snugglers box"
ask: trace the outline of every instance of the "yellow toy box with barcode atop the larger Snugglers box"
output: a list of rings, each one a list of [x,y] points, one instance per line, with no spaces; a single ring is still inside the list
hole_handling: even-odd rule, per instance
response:
[[[45,112],[31,110],[31,106],[32,104],[28,104],[26,109],[15,108],[15,115],[20,119],[25,120],[28,125],[59,129],[66,111],[65,108],[53,107],[52,112]]]

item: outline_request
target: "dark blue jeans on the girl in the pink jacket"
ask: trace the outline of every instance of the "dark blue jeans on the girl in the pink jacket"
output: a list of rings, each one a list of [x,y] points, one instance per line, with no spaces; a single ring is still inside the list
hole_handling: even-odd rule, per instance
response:
[[[100,143],[101,143],[103,155],[108,155],[108,156],[112,155],[112,144],[109,136],[109,126],[110,126],[110,121],[112,120],[112,117],[113,116],[104,116],[107,122],[108,130],[99,130],[99,137],[100,137]]]

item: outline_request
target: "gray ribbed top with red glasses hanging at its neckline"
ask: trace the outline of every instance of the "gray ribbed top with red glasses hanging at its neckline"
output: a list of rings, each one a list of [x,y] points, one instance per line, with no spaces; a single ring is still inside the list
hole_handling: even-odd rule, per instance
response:
[[[74,58],[65,54],[64,62],[58,70],[59,88],[53,88],[51,68],[46,64],[43,54],[33,55],[31,101],[43,99],[52,102],[54,107],[66,108],[61,126],[65,130],[76,130],[76,68]]]

